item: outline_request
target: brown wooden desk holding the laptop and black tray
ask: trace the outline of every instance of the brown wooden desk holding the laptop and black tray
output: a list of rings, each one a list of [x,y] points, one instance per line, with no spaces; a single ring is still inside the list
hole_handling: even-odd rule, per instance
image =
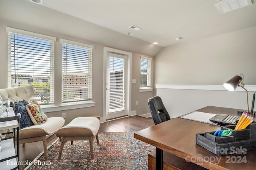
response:
[[[197,111],[237,115],[237,109],[224,107],[207,106]],[[134,137],[207,169],[254,169],[256,167],[256,150],[248,151],[246,154],[216,156],[214,153],[196,144],[196,133],[217,130],[220,130],[219,126],[174,118],[138,131],[134,133]],[[231,163],[235,159],[238,160],[239,156],[242,156],[242,158],[246,156],[247,162]],[[233,158],[233,160],[228,160],[228,158]]]

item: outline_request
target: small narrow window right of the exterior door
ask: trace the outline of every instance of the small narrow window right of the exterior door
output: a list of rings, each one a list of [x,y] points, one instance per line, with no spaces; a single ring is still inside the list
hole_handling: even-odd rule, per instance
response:
[[[140,58],[140,87],[150,88],[151,86],[151,58]]]

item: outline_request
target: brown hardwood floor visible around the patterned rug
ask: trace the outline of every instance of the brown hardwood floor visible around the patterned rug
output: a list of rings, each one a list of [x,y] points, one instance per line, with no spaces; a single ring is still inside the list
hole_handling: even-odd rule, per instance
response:
[[[121,119],[114,119],[100,124],[100,129],[98,132],[128,132],[128,131],[140,131],[147,127],[154,125],[154,121],[151,118],[144,118],[140,116],[124,117]],[[48,145],[57,139],[53,139]],[[96,141],[94,141],[96,142]],[[24,147],[20,145],[20,161],[32,161],[36,156],[43,152],[42,141],[27,143]],[[50,158],[49,158],[50,159]],[[24,169],[21,166],[20,169]]]

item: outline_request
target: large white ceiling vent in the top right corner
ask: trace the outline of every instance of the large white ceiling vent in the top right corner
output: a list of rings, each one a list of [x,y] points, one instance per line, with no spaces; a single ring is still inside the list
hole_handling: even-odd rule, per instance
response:
[[[251,4],[252,4],[251,0],[226,0],[224,2],[215,4],[215,6],[216,8],[218,8],[220,13],[224,14],[226,12],[237,10],[239,8],[242,8]]]

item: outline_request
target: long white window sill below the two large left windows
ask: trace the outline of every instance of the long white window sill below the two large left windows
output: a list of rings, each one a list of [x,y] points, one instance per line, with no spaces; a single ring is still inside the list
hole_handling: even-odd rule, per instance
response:
[[[84,108],[84,107],[94,107],[95,102],[76,102],[76,103],[67,103],[67,104],[62,104],[62,106],[53,106],[53,105],[43,105],[42,106],[42,111],[44,113],[47,112],[52,112],[52,111],[62,111],[62,110],[70,110],[70,109],[79,109],[79,108]]]

